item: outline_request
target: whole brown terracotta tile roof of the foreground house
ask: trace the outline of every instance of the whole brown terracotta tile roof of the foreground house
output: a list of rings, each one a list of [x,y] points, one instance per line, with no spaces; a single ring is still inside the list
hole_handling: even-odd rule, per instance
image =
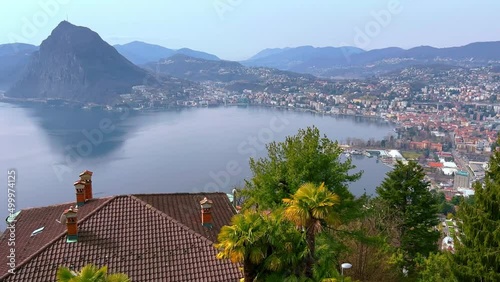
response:
[[[207,194],[214,202],[214,219],[219,213],[220,216],[227,213],[225,217],[228,218],[234,214],[227,197],[225,206],[223,205],[222,195],[224,194]],[[201,226],[199,201],[195,203],[195,200],[199,197],[202,199],[203,195],[171,196],[172,199],[167,199],[168,194],[162,194],[151,197],[116,196],[95,200],[93,212],[84,214],[85,207],[90,205],[83,206],[79,211],[78,242],[66,242],[65,226],[57,222],[55,226],[46,226],[46,229],[50,228],[45,234],[50,234],[51,238],[45,239],[43,244],[36,244],[36,248],[35,244],[31,245],[29,250],[19,245],[17,248],[22,249],[20,252],[31,257],[17,260],[16,274],[7,274],[0,280],[54,281],[60,265],[80,269],[88,263],[93,263],[97,266],[107,265],[110,273],[126,273],[132,281],[239,281],[242,277],[239,267],[227,260],[218,260],[215,257],[217,251],[213,242],[200,234],[204,232],[203,229],[193,228]],[[100,205],[97,205],[98,201],[101,201]],[[188,207],[183,207],[185,203],[189,203]],[[219,212],[216,204],[225,207],[225,212]],[[172,206],[177,206],[177,211]],[[188,212],[191,206],[195,208],[192,213]],[[22,226],[23,221],[34,226],[38,217],[44,217],[45,209],[54,209],[52,214],[59,216],[67,205],[57,207],[59,208],[39,208],[38,213],[30,210],[21,212],[16,232],[33,229],[25,229]],[[158,207],[186,219],[187,224],[181,223]],[[195,217],[198,224],[194,221]],[[193,221],[190,221],[191,219]],[[49,217],[45,222],[49,221],[55,222],[54,217]],[[228,223],[229,220],[224,222]],[[59,228],[59,231],[52,231],[52,228]],[[33,238],[43,235],[44,232],[45,230]],[[0,273],[4,274],[5,270]]]

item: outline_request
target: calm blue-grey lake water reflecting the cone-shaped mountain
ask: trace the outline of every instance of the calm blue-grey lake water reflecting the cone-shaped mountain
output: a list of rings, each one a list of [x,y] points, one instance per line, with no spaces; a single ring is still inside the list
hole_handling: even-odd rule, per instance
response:
[[[0,103],[0,113],[0,207],[7,203],[7,170],[14,168],[17,209],[74,201],[73,182],[85,169],[94,172],[96,197],[230,192],[250,177],[251,156],[265,156],[264,144],[299,128],[315,125],[339,141],[392,132],[381,121],[252,107],[109,113]],[[352,192],[373,194],[389,168],[375,158],[354,163],[365,173]]]

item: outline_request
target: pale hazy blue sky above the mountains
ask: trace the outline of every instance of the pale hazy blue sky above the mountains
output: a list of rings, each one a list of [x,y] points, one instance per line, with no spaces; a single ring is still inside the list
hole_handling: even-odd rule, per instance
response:
[[[500,40],[499,11],[499,0],[1,0],[0,43],[39,45],[68,17],[110,44],[230,60],[302,45],[445,47]]]

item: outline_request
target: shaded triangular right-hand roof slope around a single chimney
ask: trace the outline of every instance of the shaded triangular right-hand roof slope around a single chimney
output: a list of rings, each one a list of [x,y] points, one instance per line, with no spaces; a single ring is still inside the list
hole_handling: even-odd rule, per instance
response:
[[[222,226],[228,225],[233,215],[236,214],[225,193],[142,194],[134,196],[182,222],[212,242],[217,241],[217,235]],[[204,197],[213,202],[212,228],[201,225],[200,201]]]

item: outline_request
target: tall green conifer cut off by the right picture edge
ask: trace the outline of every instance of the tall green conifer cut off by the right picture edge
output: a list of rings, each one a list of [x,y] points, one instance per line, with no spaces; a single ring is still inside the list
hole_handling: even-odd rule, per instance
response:
[[[452,269],[459,281],[500,281],[500,151],[474,190],[474,201],[462,201],[458,210]]]

